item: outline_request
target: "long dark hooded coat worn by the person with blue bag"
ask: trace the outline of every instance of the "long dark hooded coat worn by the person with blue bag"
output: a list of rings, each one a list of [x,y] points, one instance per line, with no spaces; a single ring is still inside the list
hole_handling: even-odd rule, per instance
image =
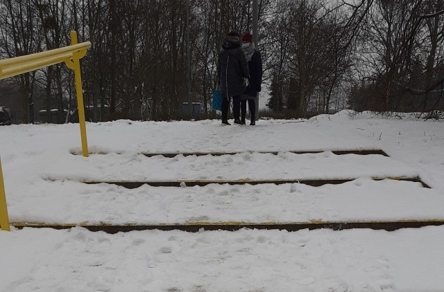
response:
[[[217,63],[219,88],[224,98],[241,95],[245,91],[244,77],[248,78],[248,64],[239,37],[228,35],[222,45]]]

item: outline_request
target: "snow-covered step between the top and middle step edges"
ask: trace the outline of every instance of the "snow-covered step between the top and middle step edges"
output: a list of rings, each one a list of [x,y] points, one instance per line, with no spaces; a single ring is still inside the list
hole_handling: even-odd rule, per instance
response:
[[[244,152],[173,158],[105,154],[87,159],[72,155],[66,163],[39,172],[40,177],[54,181],[252,181],[420,176],[418,170],[391,157],[336,155],[332,152],[280,152],[277,155]]]

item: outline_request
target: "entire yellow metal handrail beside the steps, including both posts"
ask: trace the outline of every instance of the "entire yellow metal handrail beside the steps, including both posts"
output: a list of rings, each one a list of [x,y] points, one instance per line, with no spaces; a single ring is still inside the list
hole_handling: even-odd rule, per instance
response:
[[[35,53],[32,55],[13,57],[0,60],[0,80],[15,75],[27,73],[37,69],[65,62],[74,70],[76,80],[78,123],[80,125],[80,138],[82,142],[82,154],[88,157],[88,144],[85,125],[85,108],[83,105],[82,78],[80,77],[80,59],[85,57],[86,50],[91,46],[90,42],[78,44],[77,33],[71,31],[71,46],[55,48],[50,51]],[[10,230],[8,220],[8,208],[6,205],[6,194],[3,183],[3,173],[0,161],[0,227],[1,230]]]

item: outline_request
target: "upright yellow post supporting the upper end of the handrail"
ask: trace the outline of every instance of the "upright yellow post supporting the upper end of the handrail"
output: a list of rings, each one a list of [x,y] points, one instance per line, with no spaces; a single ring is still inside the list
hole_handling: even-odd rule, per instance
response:
[[[77,33],[75,30],[71,30],[71,45],[77,44]],[[85,107],[83,106],[83,91],[82,91],[82,78],[80,76],[80,56],[79,52],[73,53],[73,66],[74,77],[76,79],[76,93],[77,93],[77,109],[78,109],[78,123],[80,124],[80,138],[82,139],[82,154],[84,157],[88,157],[88,143],[86,138],[86,125],[85,125]]]

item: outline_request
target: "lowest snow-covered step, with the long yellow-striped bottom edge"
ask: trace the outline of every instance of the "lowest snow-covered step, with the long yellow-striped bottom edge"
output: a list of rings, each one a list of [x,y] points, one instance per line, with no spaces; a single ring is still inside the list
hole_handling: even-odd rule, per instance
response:
[[[105,183],[48,181],[35,185],[33,196],[23,197],[17,188],[8,203],[12,223],[74,226],[222,228],[238,222],[238,226],[244,227],[258,225],[255,228],[282,224],[306,228],[304,224],[366,226],[398,222],[399,226],[408,222],[444,221],[444,196],[437,190],[409,181],[371,179],[317,188],[287,183],[189,188],[142,185],[126,189]]]

